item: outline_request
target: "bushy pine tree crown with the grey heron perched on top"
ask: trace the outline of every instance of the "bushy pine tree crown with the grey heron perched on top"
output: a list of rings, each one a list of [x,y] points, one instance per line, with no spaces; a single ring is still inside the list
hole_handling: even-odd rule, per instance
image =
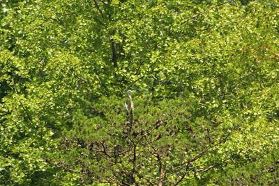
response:
[[[77,112],[52,163],[84,175],[84,183],[154,185],[166,179],[165,184],[173,185],[181,178],[199,177],[199,172],[222,163],[212,155],[230,133],[223,132],[226,126],[221,123],[197,117],[193,104],[185,98],[158,103],[138,99],[130,124],[122,100],[90,103],[104,111],[97,116],[88,110]]]

